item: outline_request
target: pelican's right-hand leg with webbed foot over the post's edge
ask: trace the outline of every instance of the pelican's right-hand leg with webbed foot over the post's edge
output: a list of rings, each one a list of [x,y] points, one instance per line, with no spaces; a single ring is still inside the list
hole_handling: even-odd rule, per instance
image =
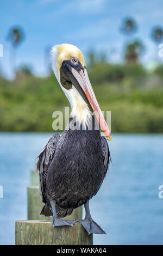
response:
[[[89,208],[89,200],[84,204],[85,208],[85,218],[84,220],[76,220],[80,222],[83,227],[86,229],[87,233],[90,234],[106,234],[105,231],[99,227],[99,225],[92,220]]]

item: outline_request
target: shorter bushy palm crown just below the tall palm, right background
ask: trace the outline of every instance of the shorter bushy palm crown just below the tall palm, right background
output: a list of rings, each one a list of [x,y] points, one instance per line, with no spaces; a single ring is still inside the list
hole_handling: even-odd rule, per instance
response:
[[[141,41],[135,40],[134,42],[130,42],[126,46],[126,53],[125,53],[125,59],[127,62],[138,62],[139,57],[145,50],[145,46],[142,44]]]

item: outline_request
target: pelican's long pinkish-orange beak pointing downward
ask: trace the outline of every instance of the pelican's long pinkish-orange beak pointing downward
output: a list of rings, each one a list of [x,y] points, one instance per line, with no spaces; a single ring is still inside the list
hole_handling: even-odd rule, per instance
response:
[[[106,124],[102,111],[98,105],[95,93],[93,92],[93,89],[89,80],[89,76],[87,75],[86,68],[80,69],[79,71],[77,71],[71,66],[71,73],[74,76],[74,78],[76,78],[77,82],[79,83],[79,86],[83,89],[83,92],[87,97],[87,100],[89,101],[93,112],[96,115],[96,118],[99,123],[99,126],[101,127],[101,130],[104,132],[106,138],[108,138],[108,141],[111,141],[112,139],[111,132],[109,130],[108,125]]]

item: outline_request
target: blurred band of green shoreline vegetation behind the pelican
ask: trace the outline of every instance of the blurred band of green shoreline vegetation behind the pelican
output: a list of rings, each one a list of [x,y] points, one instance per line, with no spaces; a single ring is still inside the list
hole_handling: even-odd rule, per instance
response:
[[[111,111],[112,132],[163,132],[162,66],[97,62],[88,72],[103,111]],[[35,77],[27,69],[13,81],[0,77],[0,130],[53,131],[52,113],[69,102],[55,76]]]

